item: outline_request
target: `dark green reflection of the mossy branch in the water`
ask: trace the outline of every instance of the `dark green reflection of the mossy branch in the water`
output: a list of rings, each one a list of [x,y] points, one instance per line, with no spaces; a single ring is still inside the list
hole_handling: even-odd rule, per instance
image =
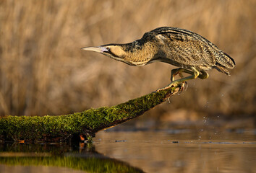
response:
[[[70,146],[2,143],[0,148],[0,172],[3,173],[16,172],[16,169],[8,169],[8,166],[17,165],[30,166],[30,172],[38,172],[38,167],[31,166],[51,167],[50,172],[142,172],[141,169],[131,167],[124,161],[103,156],[95,151],[93,144],[80,143],[80,146]],[[27,173],[27,167],[24,168],[23,172]],[[48,171],[46,169],[46,172]],[[19,172],[22,172],[21,167]],[[43,169],[40,172],[44,173]]]

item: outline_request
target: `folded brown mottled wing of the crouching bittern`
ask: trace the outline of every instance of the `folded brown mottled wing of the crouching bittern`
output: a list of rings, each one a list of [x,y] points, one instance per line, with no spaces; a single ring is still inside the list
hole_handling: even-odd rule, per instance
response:
[[[187,66],[215,66],[216,57],[221,56],[216,45],[194,32],[171,30],[159,35],[163,37],[170,58],[178,63]]]

